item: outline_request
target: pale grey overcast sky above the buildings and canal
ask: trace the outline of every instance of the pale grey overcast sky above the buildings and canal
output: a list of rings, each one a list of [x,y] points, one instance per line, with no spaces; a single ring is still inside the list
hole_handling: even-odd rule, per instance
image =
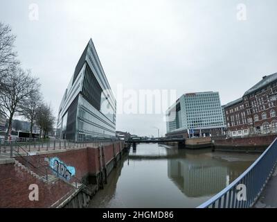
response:
[[[19,59],[55,113],[90,37],[113,90],[218,91],[224,104],[277,72],[276,0],[0,2]],[[30,3],[39,6],[38,21],[29,19]],[[246,21],[237,19],[239,3]],[[161,114],[117,115],[118,130],[157,135],[153,126],[166,132]]]

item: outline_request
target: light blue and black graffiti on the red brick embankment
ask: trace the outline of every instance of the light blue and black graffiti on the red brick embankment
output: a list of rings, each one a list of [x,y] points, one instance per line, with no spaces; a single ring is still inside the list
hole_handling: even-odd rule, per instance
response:
[[[49,161],[51,169],[55,173],[57,173],[57,176],[60,176],[66,180],[70,180],[72,176],[75,175],[75,167],[66,166],[62,160],[60,160],[58,157],[53,157]]]

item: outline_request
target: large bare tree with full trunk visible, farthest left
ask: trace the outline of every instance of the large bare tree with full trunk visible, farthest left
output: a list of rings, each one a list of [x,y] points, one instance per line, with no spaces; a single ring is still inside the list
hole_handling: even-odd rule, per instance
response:
[[[12,128],[12,118],[16,112],[20,111],[22,103],[28,99],[31,94],[38,92],[39,83],[37,78],[30,76],[30,71],[24,71],[18,66],[8,70],[6,76],[8,87],[0,90],[1,109],[6,113],[8,121],[7,136]]]

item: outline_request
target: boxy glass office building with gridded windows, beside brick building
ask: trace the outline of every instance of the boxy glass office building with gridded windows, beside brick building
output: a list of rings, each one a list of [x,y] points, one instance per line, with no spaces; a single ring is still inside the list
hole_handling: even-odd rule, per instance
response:
[[[168,108],[166,114],[168,133],[188,130],[203,135],[211,134],[211,130],[222,131],[225,127],[218,92],[184,94]]]

